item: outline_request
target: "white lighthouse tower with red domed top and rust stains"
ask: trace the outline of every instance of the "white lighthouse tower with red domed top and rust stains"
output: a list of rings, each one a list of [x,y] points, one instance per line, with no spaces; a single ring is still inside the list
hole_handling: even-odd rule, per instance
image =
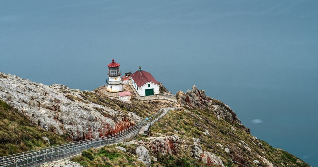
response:
[[[120,92],[122,91],[121,85],[121,71],[119,69],[120,64],[116,63],[113,59],[113,62],[108,64],[108,79],[107,82],[107,91],[108,92]]]

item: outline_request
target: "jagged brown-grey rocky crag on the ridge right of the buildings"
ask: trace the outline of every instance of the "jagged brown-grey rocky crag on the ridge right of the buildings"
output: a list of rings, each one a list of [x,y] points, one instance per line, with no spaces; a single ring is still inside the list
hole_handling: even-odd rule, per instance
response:
[[[192,90],[188,90],[186,93],[178,91],[176,98],[179,107],[199,108],[202,110],[208,107],[213,110],[216,116],[220,116],[220,118],[229,122],[241,123],[236,113],[228,105],[219,100],[207,97],[205,91],[198,90],[195,85],[192,86]]]

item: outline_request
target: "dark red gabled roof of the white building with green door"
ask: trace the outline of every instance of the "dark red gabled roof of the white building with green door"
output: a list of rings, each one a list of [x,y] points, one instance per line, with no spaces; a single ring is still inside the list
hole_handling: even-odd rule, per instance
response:
[[[142,85],[147,84],[148,82],[152,82],[154,84],[159,85],[156,79],[147,71],[136,71],[134,74],[131,74],[131,77],[135,81],[138,87],[142,87]]]

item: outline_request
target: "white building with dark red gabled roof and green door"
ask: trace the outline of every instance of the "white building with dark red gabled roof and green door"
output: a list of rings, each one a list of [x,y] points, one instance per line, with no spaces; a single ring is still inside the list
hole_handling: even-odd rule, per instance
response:
[[[131,74],[130,77],[133,87],[139,96],[159,94],[159,83],[149,72],[142,70],[141,67],[139,67],[138,71]]]

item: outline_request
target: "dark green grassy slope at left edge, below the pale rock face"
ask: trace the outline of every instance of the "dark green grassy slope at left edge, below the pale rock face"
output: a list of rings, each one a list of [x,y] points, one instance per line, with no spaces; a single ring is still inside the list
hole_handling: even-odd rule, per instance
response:
[[[47,137],[50,144],[42,137]],[[0,157],[69,142],[31,123],[24,114],[0,100]]]

